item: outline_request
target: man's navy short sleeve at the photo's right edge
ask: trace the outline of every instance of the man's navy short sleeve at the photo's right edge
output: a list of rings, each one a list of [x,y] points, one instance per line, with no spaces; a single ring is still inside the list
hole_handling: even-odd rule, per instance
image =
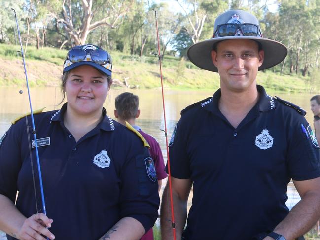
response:
[[[292,127],[287,161],[293,180],[302,181],[320,176],[320,150],[311,131],[303,117]]]

